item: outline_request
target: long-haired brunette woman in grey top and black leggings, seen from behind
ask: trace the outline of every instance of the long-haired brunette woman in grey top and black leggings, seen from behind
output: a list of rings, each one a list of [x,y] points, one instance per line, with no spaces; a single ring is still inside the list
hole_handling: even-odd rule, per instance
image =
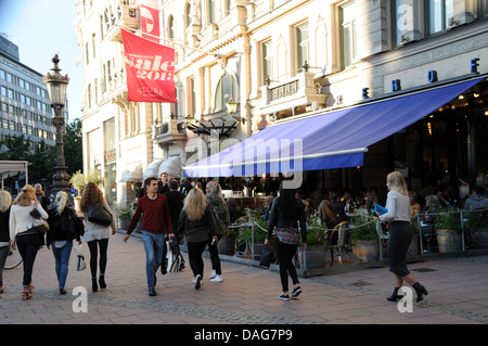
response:
[[[103,196],[102,191],[94,182],[90,181],[87,183],[81,195],[79,209],[84,213],[85,222],[82,241],[87,243],[88,249],[90,251],[91,290],[97,292],[99,291],[99,284],[100,289],[106,289],[105,269],[107,264],[108,239],[111,233],[115,234],[117,229],[115,227],[115,217],[112,217],[112,223],[110,226],[98,225],[88,220],[88,209],[94,204],[102,205],[113,216],[112,209]],[[98,267],[100,267],[100,277],[99,282],[97,283]]]

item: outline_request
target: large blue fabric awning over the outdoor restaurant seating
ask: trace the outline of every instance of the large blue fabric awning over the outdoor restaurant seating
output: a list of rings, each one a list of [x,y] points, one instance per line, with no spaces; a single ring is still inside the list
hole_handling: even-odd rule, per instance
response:
[[[184,167],[185,177],[254,176],[362,166],[368,146],[418,121],[483,78],[268,126]]]

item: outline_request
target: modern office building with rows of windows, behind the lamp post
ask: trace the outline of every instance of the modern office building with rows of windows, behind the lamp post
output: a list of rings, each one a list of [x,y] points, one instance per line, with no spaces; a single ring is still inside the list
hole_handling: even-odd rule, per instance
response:
[[[24,136],[30,149],[43,140],[55,145],[48,89],[42,75],[24,65],[18,47],[0,35],[0,139]],[[67,107],[64,115],[67,119]]]

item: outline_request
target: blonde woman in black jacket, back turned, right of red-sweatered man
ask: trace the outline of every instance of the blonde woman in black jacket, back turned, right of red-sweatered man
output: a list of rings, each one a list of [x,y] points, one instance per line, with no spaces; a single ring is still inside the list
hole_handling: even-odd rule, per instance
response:
[[[195,277],[193,284],[195,290],[200,290],[204,274],[202,254],[209,239],[213,242],[217,242],[217,235],[215,234],[216,225],[210,206],[205,200],[203,191],[198,188],[190,190],[184,198],[179,229],[187,235],[188,257]]]

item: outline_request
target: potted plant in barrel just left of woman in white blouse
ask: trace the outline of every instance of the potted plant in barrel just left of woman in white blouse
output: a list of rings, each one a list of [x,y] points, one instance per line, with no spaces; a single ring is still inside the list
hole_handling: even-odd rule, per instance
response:
[[[356,261],[376,260],[380,254],[376,218],[365,215],[354,216],[351,222],[354,229],[350,234],[350,243]]]

